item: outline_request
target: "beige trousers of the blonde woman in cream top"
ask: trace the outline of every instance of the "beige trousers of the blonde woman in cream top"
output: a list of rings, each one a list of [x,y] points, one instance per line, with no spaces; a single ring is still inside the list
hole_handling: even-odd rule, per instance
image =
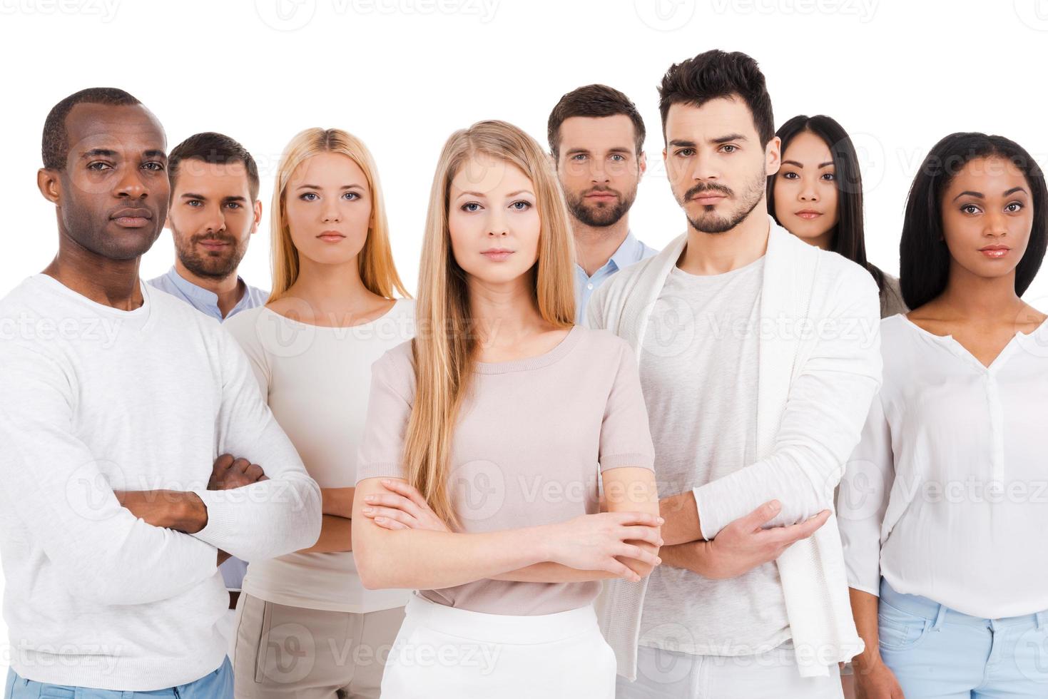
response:
[[[377,699],[403,607],[366,614],[288,607],[242,593],[236,699]]]

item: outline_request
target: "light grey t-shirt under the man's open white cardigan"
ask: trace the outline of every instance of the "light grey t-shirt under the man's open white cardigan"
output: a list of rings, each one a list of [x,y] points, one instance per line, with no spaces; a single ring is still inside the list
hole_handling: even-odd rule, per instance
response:
[[[757,373],[764,258],[723,275],[670,272],[645,332],[640,381],[660,497],[757,459]],[[779,570],[732,580],[658,566],[640,645],[696,655],[752,655],[790,637]]]

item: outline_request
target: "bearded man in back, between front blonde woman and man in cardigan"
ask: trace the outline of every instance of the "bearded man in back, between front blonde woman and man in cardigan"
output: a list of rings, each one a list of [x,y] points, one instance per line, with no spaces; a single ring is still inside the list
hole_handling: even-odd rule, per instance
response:
[[[633,237],[629,213],[645,174],[645,123],[630,99],[607,85],[568,92],[547,125],[549,152],[575,238],[575,322],[609,277],[655,255]]]

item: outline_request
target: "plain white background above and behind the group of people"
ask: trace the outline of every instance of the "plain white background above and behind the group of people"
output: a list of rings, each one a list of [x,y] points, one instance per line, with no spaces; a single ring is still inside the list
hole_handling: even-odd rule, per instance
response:
[[[661,247],[684,220],[662,175],[656,85],[672,63],[709,48],[760,62],[777,126],[825,113],[852,134],[869,257],[887,271],[898,270],[910,181],[941,136],[1000,133],[1048,167],[1048,0],[0,0],[0,293],[54,254],[53,209],[36,187],[41,129],[56,102],[92,86],[141,100],[169,148],[220,131],[252,151],[264,223],[241,274],[256,286],[269,284],[272,176],[299,130],[339,127],[368,144],[414,292],[447,135],[503,118],[545,144],[549,110],[589,83],[623,90],[645,117],[650,171],[631,227]],[[172,256],[165,233],[141,276],[163,272]],[[1026,294],[1042,310],[1046,278]],[[0,651],[6,672],[9,649]]]

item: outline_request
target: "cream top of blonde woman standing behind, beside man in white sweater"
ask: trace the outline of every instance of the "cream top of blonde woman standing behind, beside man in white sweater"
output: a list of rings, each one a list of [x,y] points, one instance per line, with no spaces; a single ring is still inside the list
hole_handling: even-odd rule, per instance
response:
[[[415,302],[347,328],[291,321],[252,308],[225,327],[247,353],[280,427],[322,488],[353,487],[371,364],[414,335]],[[401,607],[409,590],[366,590],[350,551],[288,553],[247,567],[243,589],[267,602],[366,613]]]

